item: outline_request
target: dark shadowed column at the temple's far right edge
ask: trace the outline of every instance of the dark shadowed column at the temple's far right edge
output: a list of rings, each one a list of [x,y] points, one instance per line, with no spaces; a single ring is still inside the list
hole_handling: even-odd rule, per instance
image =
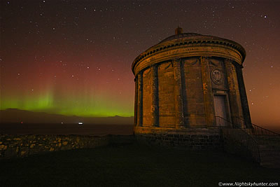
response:
[[[247,95],[246,95],[246,89],[245,89],[244,79],[243,79],[243,74],[242,74],[243,67],[238,64],[237,66],[235,66],[235,68],[237,70],[237,81],[238,81],[238,85],[239,85],[241,106],[242,106],[245,126],[246,126],[246,128],[251,128],[252,127],[251,116],[250,116],[248,99],[247,99]]]

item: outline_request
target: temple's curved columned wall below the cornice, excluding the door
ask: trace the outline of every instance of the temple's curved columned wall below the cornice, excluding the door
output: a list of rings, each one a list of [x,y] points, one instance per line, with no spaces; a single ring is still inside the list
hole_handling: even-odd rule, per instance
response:
[[[144,69],[136,78],[134,125],[213,127],[214,95],[225,96],[228,120],[243,118],[235,69],[221,57],[183,57]],[[214,74],[221,75],[218,82]]]

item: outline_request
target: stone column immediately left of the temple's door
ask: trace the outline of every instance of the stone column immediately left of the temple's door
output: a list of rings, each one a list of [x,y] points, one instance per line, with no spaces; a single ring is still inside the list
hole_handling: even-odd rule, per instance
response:
[[[202,85],[205,118],[207,126],[215,125],[215,110],[214,110],[214,97],[210,78],[209,59],[207,57],[200,57],[202,66]]]

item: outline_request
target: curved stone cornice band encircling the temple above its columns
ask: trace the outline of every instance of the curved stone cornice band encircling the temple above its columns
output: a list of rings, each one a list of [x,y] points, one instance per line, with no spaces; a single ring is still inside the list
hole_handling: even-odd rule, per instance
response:
[[[201,55],[230,58],[242,64],[246,57],[246,51],[239,43],[216,36],[192,36],[183,39],[174,39],[172,41],[158,43],[144,53],[141,53],[132,63],[132,71],[134,74],[137,74],[137,69],[140,71],[140,69],[151,66],[151,63],[147,63],[151,60],[153,60],[152,63],[158,63],[159,61],[169,60],[174,57]],[[142,64],[143,62],[147,66]],[[140,69],[137,68],[139,65],[141,67]]]

